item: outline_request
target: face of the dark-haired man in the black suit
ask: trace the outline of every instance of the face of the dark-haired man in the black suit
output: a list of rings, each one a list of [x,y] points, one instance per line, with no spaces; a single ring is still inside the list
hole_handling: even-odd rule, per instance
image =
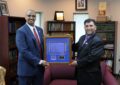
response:
[[[86,31],[87,35],[91,35],[91,34],[95,33],[95,31],[96,31],[95,24],[92,21],[85,23],[85,31]]]

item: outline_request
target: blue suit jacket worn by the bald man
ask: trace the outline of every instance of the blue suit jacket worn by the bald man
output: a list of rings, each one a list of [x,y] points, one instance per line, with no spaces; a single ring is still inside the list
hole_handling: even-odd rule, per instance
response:
[[[43,30],[39,27],[36,28],[40,37],[43,52]],[[41,70],[44,71],[44,67],[38,65],[40,59],[43,59],[43,56],[40,56],[40,49],[37,46],[35,37],[26,24],[17,30],[16,45],[19,52],[17,69],[19,76],[32,76]]]

